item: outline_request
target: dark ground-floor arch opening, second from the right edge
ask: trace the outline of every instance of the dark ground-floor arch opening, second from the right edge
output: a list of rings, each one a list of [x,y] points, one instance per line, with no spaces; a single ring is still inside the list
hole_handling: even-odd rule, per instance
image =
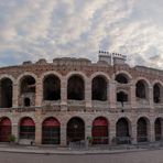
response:
[[[140,118],[137,122],[137,141],[138,142],[148,141],[148,122],[145,118]]]

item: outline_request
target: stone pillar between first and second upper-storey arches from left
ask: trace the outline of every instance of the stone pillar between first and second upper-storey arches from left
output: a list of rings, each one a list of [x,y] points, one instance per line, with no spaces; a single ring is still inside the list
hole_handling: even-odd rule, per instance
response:
[[[13,90],[13,93],[12,93],[12,108],[18,108],[18,106],[19,106],[19,85],[14,83],[12,90]]]

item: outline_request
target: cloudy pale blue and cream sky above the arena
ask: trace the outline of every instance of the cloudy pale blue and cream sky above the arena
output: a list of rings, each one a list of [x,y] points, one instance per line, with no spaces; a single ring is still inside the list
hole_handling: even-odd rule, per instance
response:
[[[0,66],[98,51],[163,69],[163,0],[0,0]]]

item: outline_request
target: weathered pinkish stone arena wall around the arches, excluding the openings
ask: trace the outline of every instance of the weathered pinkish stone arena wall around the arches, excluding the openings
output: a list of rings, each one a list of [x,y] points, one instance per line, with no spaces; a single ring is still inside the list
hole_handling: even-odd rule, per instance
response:
[[[129,77],[127,85],[115,80],[117,74],[123,73]],[[43,79],[54,74],[61,79],[61,100],[43,101]],[[23,76],[33,76],[36,80],[34,101],[29,108],[23,108],[20,99],[20,80]],[[67,80],[72,75],[79,75],[85,82],[85,100],[67,100]],[[104,76],[108,82],[107,101],[91,100],[91,82],[97,75]],[[44,59],[36,64],[0,68],[0,79],[8,77],[13,83],[12,108],[1,108],[0,117],[8,117],[12,122],[12,133],[19,141],[19,122],[23,117],[31,117],[36,127],[35,143],[42,141],[42,122],[47,117],[55,117],[61,122],[61,145],[66,145],[66,124],[72,117],[79,117],[85,122],[86,137],[91,135],[91,126],[97,117],[105,117],[109,122],[109,140],[116,137],[118,119],[126,118],[130,123],[130,133],[133,143],[137,143],[137,121],[140,117],[149,120],[149,141],[154,141],[154,121],[163,118],[163,102],[153,102],[153,85],[160,83],[163,87],[163,72],[146,67],[129,67],[128,65],[93,64],[88,59],[57,58],[48,64]],[[143,79],[148,84],[146,101],[135,98],[135,84]],[[129,101],[121,106],[116,101],[116,93],[126,90]],[[163,94],[163,91],[162,91]],[[34,106],[35,104],[35,106]]]

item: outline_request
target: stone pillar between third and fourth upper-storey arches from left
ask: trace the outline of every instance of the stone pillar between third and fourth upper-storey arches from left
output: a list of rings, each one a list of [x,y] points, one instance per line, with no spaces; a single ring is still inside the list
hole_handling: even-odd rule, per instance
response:
[[[62,110],[67,110],[67,80],[66,77],[61,79],[61,107]]]

